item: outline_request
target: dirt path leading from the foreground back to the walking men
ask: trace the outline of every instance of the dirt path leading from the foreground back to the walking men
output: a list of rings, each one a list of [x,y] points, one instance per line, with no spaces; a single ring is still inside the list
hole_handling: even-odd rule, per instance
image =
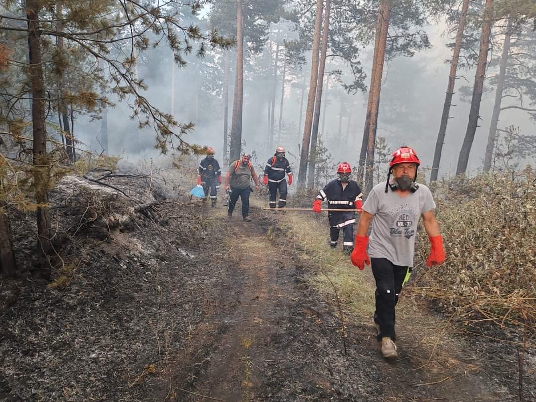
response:
[[[277,221],[258,215],[251,224],[230,222],[223,257],[233,280],[191,330],[170,398],[515,400],[501,369],[505,354],[450,336],[442,331],[444,317],[411,299],[398,308],[396,363],[382,360],[371,326],[351,319],[345,354],[339,317],[311,289],[313,272],[303,256],[281,247],[284,240],[271,241],[267,233]],[[482,359],[487,352],[493,352],[492,359]]]

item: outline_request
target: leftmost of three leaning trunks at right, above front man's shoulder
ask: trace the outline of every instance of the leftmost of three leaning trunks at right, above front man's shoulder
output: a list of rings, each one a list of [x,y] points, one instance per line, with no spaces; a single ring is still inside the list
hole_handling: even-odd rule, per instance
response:
[[[443,114],[441,115],[441,123],[439,126],[439,133],[437,134],[436,149],[434,153],[434,163],[432,164],[432,171],[430,174],[430,182],[437,180],[439,173],[439,165],[441,162],[441,152],[443,151],[443,142],[446,135],[446,125],[449,122],[449,113],[452,102],[452,95],[454,94],[454,84],[456,81],[456,71],[458,69],[458,59],[460,56],[461,39],[464,36],[465,19],[467,17],[467,8],[469,0],[463,0],[461,4],[461,15],[458,23],[458,31],[456,32],[456,41],[454,43],[454,50],[452,51],[452,61],[450,63],[449,83],[446,86],[445,103],[443,104]]]

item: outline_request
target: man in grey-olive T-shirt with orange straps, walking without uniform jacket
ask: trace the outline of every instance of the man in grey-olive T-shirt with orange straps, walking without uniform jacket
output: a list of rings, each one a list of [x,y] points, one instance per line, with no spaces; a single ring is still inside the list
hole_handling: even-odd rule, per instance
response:
[[[255,182],[255,190],[259,189],[259,179],[255,169],[251,166],[249,160],[251,155],[243,154],[240,160],[230,164],[229,170],[225,175],[225,191],[230,188],[230,200],[227,205],[227,217],[232,218],[234,207],[238,198],[242,200],[242,220],[251,222],[249,217],[249,193],[251,192],[251,179]]]

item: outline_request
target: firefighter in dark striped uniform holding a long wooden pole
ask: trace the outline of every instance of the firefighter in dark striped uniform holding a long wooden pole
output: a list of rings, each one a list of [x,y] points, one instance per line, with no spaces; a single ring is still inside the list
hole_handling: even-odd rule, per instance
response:
[[[327,202],[329,209],[343,209],[348,212],[328,212],[330,222],[330,246],[335,248],[339,240],[339,232],[343,229],[343,251],[350,253],[354,248],[355,212],[361,213],[363,193],[359,184],[350,179],[352,167],[348,162],[340,163],[337,167],[339,177],[327,183],[318,191],[312,210],[321,212],[321,204]]]

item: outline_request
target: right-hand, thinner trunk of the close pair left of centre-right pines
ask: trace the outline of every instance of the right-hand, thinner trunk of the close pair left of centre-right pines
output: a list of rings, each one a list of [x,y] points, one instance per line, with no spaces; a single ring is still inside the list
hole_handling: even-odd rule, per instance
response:
[[[318,141],[318,121],[320,118],[320,106],[322,105],[322,89],[324,85],[324,71],[326,68],[326,53],[327,53],[327,36],[330,31],[330,8],[331,1],[326,0],[324,8],[324,24],[322,28],[322,45],[320,47],[320,60],[318,62],[318,83],[316,86],[316,95],[315,95],[315,113],[312,121],[312,132],[311,132],[311,151],[309,152],[309,179],[307,181],[308,187],[312,188],[315,185],[315,168],[316,160],[318,159],[316,143]],[[329,76],[326,77],[326,90],[327,82]],[[324,101],[324,116],[322,117],[322,130],[324,130],[324,120],[325,120],[325,101]]]

